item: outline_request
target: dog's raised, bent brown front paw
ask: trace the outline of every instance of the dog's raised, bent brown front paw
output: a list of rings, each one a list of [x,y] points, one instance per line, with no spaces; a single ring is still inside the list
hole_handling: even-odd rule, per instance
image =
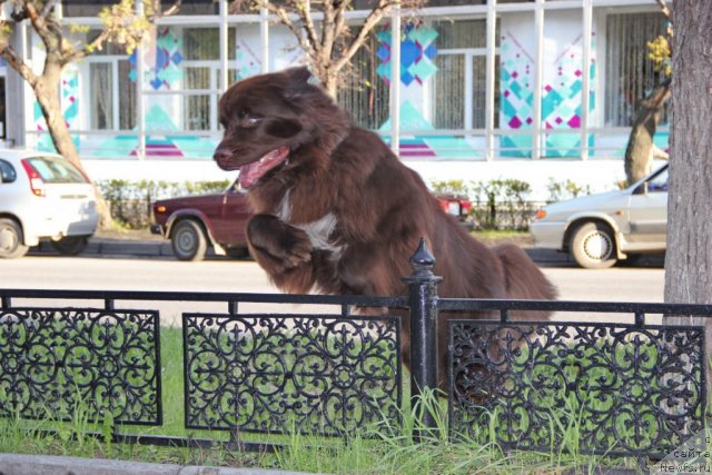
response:
[[[255,215],[247,225],[247,240],[259,265],[279,275],[312,260],[312,241],[301,229],[273,215]]]

